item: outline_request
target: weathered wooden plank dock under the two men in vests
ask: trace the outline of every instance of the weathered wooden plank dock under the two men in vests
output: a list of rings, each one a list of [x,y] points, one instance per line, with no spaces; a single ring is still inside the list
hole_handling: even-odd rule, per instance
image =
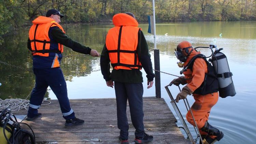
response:
[[[51,104],[41,106],[39,112],[42,117],[29,124],[35,133],[35,140],[39,144],[119,144],[119,129],[117,128],[116,100],[107,99],[74,99],[70,105],[76,117],[85,120],[85,124],[66,127],[58,100],[51,100]],[[143,97],[144,126],[146,133],[153,135],[154,140],[149,144],[190,144],[184,138],[176,125],[176,118],[170,111],[163,98]],[[21,110],[15,115],[24,115]],[[129,106],[127,104],[129,123],[129,142],[134,143]],[[111,127],[110,125],[114,126]],[[26,126],[23,126],[26,128]]]

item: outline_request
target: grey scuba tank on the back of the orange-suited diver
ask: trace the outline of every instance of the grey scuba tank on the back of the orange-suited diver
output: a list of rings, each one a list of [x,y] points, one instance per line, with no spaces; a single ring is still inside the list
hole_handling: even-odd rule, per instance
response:
[[[232,81],[232,73],[229,70],[227,57],[219,52],[223,48],[218,49],[215,45],[210,45],[210,48],[215,48],[215,52],[209,61],[212,62],[214,70],[217,74],[217,79],[219,83],[219,96],[226,98],[227,96],[236,95],[236,90],[234,88],[234,83]]]

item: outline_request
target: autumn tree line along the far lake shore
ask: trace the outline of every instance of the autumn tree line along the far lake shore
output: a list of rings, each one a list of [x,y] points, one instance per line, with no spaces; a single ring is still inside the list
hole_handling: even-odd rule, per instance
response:
[[[9,32],[31,25],[48,9],[62,23],[110,22],[116,13],[132,12],[138,21],[153,15],[152,0],[0,0],[0,45]],[[256,0],[155,0],[156,21],[256,20]]]

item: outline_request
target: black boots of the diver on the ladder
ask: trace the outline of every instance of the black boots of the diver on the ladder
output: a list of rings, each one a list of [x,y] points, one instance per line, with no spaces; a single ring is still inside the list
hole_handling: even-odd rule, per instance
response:
[[[201,128],[201,130],[208,133],[208,136],[206,136],[203,139],[203,144],[213,144],[216,141],[221,140],[224,136],[223,132],[211,126],[207,121],[205,122],[205,125]],[[216,137],[211,138],[210,136],[216,136]]]

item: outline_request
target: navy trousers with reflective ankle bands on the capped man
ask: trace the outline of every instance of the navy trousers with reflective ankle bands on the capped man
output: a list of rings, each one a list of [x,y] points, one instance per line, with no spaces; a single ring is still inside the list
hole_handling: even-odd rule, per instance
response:
[[[45,92],[48,86],[50,86],[59,101],[63,118],[75,118],[75,113],[69,104],[67,84],[61,69],[59,67],[47,69],[33,68],[33,72],[35,74],[35,86],[30,96],[28,117],[34,117],[37,115]]]

